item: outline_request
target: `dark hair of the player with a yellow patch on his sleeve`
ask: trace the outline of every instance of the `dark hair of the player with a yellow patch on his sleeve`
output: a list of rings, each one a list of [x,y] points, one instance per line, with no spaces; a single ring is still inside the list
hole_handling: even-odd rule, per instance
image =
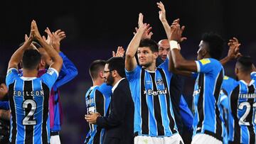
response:
[[[208,43],[208,50],[210,57],[220,60],[221,54],[224,49],[224,40],[217,33],[204,33],[202,40]]]

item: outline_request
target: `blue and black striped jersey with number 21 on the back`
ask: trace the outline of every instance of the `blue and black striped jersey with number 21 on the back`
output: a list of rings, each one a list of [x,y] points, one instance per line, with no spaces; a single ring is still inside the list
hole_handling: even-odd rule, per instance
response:
[[[255,143],[256,129],[256,77],[251,74],[250,84],[245,81],[228,82],[223,89],[227,92],[230,114],[228,117],[230,143]]]

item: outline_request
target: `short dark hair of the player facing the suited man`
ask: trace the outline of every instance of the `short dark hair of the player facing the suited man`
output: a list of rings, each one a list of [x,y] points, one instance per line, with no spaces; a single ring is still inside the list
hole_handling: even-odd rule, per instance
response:
[[[104,70],[105,64],[105,60],[95,60],[90,64],[89,72],[92,79],[96,79],[98,72]]]

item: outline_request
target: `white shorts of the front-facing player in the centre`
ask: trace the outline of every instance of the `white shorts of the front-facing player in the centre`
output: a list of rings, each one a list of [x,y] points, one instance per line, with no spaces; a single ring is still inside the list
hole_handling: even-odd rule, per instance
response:
[[[151,137],[151,136],[142,136],[138,135],[134,138],[134,144],[183,144],[181,135],[174,134],[169,137]]]

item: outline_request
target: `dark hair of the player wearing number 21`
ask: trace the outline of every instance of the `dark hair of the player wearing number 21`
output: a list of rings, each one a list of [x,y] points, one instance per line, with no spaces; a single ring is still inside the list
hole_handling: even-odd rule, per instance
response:
[[[237,64],[240,66],[242,72],[252,72],[252,58],[250,56],[238,57]]]

